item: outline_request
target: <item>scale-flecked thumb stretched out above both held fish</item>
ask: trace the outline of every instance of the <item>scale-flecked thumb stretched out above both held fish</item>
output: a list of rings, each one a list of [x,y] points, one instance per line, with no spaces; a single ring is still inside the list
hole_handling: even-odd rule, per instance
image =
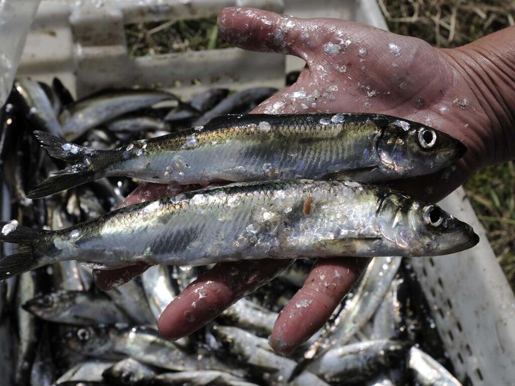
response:
[[[228,43],[253,51],[279,52],[306,60],[314,47],[307,39],[310,20],[254,8],[224,8],[218,31]]]

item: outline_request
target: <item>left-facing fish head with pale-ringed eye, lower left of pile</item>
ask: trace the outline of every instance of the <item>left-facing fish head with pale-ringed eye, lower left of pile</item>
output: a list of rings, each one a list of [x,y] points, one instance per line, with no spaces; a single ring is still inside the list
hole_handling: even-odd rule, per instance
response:
[[[78,327],[68,330],[65,343],[77,353],[88,356],[101,356],[110,352],[114,342],[105,327]]]

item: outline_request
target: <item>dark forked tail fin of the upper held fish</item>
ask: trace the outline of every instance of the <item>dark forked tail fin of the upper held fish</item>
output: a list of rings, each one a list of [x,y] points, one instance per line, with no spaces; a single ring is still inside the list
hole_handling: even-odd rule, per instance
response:
[[[53,195],[105,176],[105,155],[113,150],[96,150],[75,145],[43,131],[35,131],[34,135],[51,156],[76,164],[48,177],[28,192],[28,198],[35,199]]]

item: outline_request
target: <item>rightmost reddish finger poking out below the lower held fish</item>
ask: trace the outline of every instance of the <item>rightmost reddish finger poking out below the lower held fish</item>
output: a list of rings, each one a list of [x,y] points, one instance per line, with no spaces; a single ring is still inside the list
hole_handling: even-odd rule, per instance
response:
[[[270,347],[288,355],[308,340],[327,322],[369,261],[352,257],[318,259],[304,286],[279,314],[268,338]]]

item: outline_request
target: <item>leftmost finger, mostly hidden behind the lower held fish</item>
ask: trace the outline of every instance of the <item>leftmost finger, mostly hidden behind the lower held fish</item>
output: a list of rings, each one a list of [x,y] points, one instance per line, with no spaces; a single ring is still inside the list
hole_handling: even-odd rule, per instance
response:
[[[124,207],[127,205],[138,204],[140,202],[157,200],[161,197],[173,196],[183,191],[192,190],[194,186],[174,186],[165,184],[145,183],[134,189],[129,196],[119,205]],[[93,280],[98,288],[104,291],[112,290],[119,287],[134,277],[141,275],[149,266],[135,265],[113,270],[93,270]]]

